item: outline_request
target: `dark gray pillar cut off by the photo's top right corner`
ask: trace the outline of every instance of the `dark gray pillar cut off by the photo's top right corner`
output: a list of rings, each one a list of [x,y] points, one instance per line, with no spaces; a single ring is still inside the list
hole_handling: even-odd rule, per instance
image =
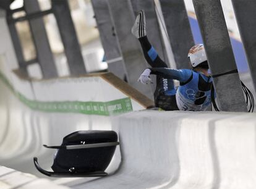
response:
[[[256,1],[232,0],[236,20],[256,90]]]

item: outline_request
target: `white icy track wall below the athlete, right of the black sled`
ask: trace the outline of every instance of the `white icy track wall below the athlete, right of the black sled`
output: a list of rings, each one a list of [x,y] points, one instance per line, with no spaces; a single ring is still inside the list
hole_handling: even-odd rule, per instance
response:
[[[75,188],[255,188],[256,116],[142,111],[114,120],[116,174]]]

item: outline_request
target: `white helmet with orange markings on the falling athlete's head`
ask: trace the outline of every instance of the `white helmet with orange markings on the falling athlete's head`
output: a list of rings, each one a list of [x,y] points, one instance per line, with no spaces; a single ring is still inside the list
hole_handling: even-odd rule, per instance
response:
[[[197,65],[207,61],[207,56],[205,54],[205,48],[203,47],[203,44],[196,44],[195,46],[192,46],[192,48],[189,50],[188,57],[192,67],[197,67]]]

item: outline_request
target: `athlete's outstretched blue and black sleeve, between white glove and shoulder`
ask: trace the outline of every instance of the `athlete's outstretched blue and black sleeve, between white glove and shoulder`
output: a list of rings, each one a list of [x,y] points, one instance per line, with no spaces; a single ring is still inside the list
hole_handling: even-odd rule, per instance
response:
[[[151,74],[159,75],[163,78],[169,78],[174,80],[179,80],[179,82],[185,83],[189,78],[191,77],[192,70],[189,69],[181,69],[181,70],[175,70],[175,69],[168,69],[168,68],[150,68]]]

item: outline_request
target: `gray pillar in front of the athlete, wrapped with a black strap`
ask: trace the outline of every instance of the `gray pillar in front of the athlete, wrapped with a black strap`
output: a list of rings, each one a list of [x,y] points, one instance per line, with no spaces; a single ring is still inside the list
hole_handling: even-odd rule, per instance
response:
[[[220,0],[193,0],[221,111],[245,112],[244,94],[237,72]]]

